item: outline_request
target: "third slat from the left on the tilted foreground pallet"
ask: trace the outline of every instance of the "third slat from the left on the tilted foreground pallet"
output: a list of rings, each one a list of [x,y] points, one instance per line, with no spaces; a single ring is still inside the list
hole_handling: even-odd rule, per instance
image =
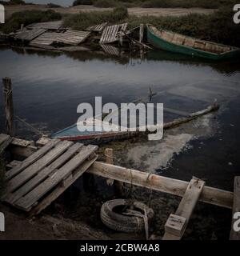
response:
[[[56,159],[49,166],[41,170],[36,176],[34,176],[34,178],[30,179],[29,182],[26,182],[26,184],[14,191],[14,193],[8,194],[7,197],[4,198],[5,201],[13,204],[19,198],[22,198],[22,196],[34,189],[34,187],[38,186],[38,184],[40,184],[48,175],[52,174],[54,170],[61,167],[65,162],[73,157],[74,154],[82,148],[82,146],[83,144],[81,143],[75,143],[73,146],[70,146],[70,148],[60,156],[60,158]]]

